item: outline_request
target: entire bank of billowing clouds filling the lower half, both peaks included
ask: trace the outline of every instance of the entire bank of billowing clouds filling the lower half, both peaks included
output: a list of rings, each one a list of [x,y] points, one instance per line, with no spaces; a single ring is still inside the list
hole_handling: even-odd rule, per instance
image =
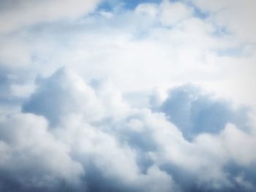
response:
[[[111,101],[113,96],[99,94],[99,90],[108,85],[101,86],[96,82],[87,85],[77,74],[60,69],[42,80],[23,106],[24,112],[44,115],[50,126],[44,118],[23,112],[1,118],[0,146],[4,154],[1,180],[9,180],[6,185],[1,184],[2,188],[10,190],[13,186],[16,190],[28,191],[33,188],[53,191],[56,188],[75,191],[158,191],[159,188],[162,191],[236,191],[239,188],[252,191],[255,188],[255,172],[249,170],[256,163],[255,128],[253,124],[243,126],[249,123],[246,118],[233,121],[233,115],[244,112],[246,116],[246,111],[231,110],[222,100],[211,99],[192,85],[184,85],[171,90],[170,96],[159,104],[157,110],[166,114],[126,108],[123,115],[116,117],[120,113],[112,112],[115,107],[110,107],[116,103],[104,101],[106,98]],[[101,110],[94,111],[98,104],[88,98],[99,101]],[[46,102],[48,99],[53,102]],[[182,106],[175,99],[181,99]],[[84,105],[76,106],[76,101]],[[176,107],[171,105],[173,102]],[[44,105],[38,107],[40,103]],[[50,109],[56,110],[58,120],[52,121]],[[102,109],[108,109],[108,113],[97,116],[104,112]],[[187,112],[178,112],[186,109]],[[173,119],[171,110],[176,111]],[[200,110],[208,118],[184,120],[185,124],[192,124],[186,126],[194,131],[192,142],[188,142],[186,126],[178,120],[191,118],[192,114],[197,116],[195,112]],[[98,118],[91,119],[86,114]],[[220,123],[217,130],[213,128],[213,120]],[[197,128],[200,121],[203,126]],[[49,155],[51,153],[54,156]],[[33,165],[34,159],[40,168],[34,165],[29,176],[20,180],[29,169],[25,164]],[[57,164],[59,161],[63,163]],[[10,179],[12,174],[15,177]],[[34,183],[29,184],[31,180]]]

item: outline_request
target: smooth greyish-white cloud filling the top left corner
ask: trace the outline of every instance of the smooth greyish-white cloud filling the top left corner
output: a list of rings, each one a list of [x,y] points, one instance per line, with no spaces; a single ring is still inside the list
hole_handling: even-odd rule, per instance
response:
[[[72,20],[91,12],[99,0],[1,1],[0,32],[56,20]]]

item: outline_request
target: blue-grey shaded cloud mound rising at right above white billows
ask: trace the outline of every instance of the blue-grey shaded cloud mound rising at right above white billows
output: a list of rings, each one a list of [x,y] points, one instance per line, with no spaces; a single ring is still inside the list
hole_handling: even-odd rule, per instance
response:
[[[247,107],[234,110],[229,101],[213,99],[191,84],[170,90],[158,110],[189,140],[201,133],[219,133],[227,123],[246,128],[248,112]]]

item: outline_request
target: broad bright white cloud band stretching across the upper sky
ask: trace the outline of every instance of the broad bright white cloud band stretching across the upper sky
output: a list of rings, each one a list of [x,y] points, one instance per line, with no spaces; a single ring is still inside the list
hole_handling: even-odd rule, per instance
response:
[[[56,23],[39,31],[26,31],[27,34],[19,34],[15,39],[5,37],[8,39],[5,44],[10,46],[3,45],[1,65],[26,69],[15,72],[14,76],[27,73],[30,84],[36,74],[47,77],[66,65],[88,81],[110,79],[120,91],[145,91],[197,82],[219,94],[252,104],[255,91],[245,85],[253,82],[251,75],[246,77],[254,70],[253,46],[247,47],[245,53],[241,41],[233,35],[214,34],[219,27],[211,20],[195,17],[195,12],[178,21],[176,27],[159,27],[157,23],[165,4],[192,9],[181,2],[140,4],[135,12],[112,12],[110,18],[91,15],[80,23]],[[157,16],[138,14],[139,9],[144,9],[141,7],[154,7]],[[228,55],[234,47],[241,49],[240,58]],[[17,57],[12,57],[13,52]],[[237,78],[241,71],[245,75]],[[237,93],[234,85],[242,85],[244,92]]]

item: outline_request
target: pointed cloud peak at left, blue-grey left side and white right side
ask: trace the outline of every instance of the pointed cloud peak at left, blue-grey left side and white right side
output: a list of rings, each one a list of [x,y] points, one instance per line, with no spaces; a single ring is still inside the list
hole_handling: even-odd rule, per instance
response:
[[[82,114],[88,121],[100,115],[100,104],[94,91],[66,69],[59,69],[48,79],[37,81],[38,88],[23,104],[23,112],[43,115],[53,126],[70,113]]]

